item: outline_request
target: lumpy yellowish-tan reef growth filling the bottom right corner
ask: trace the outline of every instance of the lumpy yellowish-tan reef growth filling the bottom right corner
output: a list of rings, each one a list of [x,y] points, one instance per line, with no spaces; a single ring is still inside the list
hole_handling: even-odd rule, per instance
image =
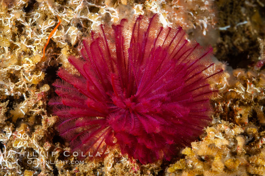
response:
[[[185,159],[170,165],[166,175],[264,175],[265,131],[249,128],[223,120],[208,127],[202,141],[183,149]]]

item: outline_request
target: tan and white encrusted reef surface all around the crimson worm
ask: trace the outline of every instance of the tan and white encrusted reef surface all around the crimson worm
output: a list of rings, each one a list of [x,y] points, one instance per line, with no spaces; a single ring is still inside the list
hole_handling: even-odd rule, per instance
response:
[[[211,0],[2,0],[0,3],[0,175],[265,175],[262,1],[228,4]],[[231,9],[232,15],[220,13]],[[113,150],[102,162],[71,164],[77,159],[63,155],[70,147],[58,136],[58,117],[51,116],[47,106],[47,100],[54,94],[51,83],[56,79],[56,70],[67,65],[69,55],[78,55],[82,37],[99,24],[112,24],[133,14],[150,12],[160,14],[161,25],[179,23],[191,38],[202,44],[211,43],[216,57],[232,66],[221,63],[226,73],[216,83],[219,97],[211,100],[215,110],[213,124],[171,163],[142,165]],[[42,58],[48,37],[58,24],[57,15],[61,24]],[[240,66],[247,63],[244,69],[235,69],[239,58]],[[20,152],[25,152],[26,157],[20,156]],[[39,163],[29,164],[28,152],[30,160]]]

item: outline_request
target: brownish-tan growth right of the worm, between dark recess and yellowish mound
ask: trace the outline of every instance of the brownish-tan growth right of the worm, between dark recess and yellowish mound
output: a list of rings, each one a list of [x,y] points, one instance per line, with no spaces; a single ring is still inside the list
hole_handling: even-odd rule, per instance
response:
[[[265,123],[265,72],[235,69],[219,82],[215,118],[246,127]]]

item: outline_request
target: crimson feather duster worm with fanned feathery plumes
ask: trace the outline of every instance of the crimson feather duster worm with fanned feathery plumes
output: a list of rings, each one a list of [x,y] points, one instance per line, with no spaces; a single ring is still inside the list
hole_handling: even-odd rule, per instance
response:
[[[58,71],[49,105],[72,151],[103,156],[118,146],[142,164],[170,160],[211,122],[210,82],[223,71],[211,62],[212,48],[158,20],[100,25],[81,56],[69,56],[72,68]]]

